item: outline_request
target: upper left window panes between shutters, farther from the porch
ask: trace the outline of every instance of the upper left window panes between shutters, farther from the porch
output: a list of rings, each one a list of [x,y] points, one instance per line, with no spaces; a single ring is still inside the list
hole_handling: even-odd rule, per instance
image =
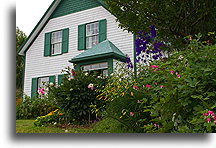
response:
[[[62,31],[52,32],[51,55],[61,54]]]

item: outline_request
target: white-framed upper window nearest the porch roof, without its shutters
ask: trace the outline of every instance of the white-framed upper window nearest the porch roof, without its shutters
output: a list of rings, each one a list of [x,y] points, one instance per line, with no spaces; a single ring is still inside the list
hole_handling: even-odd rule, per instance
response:
[[[98,44],[99,23],[91,23],[86,25],[86,48],[92,48]]]

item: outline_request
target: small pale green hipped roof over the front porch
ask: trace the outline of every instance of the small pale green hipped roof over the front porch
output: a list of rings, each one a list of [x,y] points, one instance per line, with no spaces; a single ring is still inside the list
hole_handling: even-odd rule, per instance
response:
[[[92,48],[82,52],[81,54],[75,56],[69,62],[78,63],[82,61],[98,59],[98,58],[107,58],[112,57],[125,61],[126,56],[119,50],[112,42],[105,40]]]

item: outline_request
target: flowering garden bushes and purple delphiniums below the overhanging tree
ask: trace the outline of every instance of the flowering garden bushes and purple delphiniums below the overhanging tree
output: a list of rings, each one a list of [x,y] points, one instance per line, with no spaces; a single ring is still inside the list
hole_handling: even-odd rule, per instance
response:
[[[67,67],[61,85],[44,84],[37,98],[17,99],[17,124],[34,119],[26,122],[36,129],[72,133],[216,132],[216,45],[201,38],[188,36],[184,50],[165,53],[169,46],[154,26],[140,31],[137,71],[130,57],[109,77]]]

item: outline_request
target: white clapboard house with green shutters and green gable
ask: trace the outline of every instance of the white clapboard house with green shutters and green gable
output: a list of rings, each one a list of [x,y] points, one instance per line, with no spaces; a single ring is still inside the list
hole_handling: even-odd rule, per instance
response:
[[[62,69],[113,71],[115,62],[134,63],[134,35],[118,27],[101,0],[54,0],[19,50],[25,57],[24,94],[42,81],[59,84]]]

